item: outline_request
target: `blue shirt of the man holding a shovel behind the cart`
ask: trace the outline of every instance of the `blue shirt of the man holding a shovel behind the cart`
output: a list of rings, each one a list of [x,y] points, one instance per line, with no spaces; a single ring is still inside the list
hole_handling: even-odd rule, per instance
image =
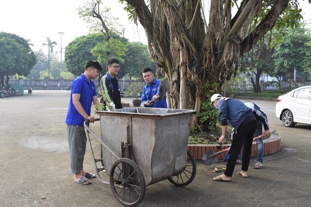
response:
[[[159,94],[159,85],[160,85],[160,80],[153,80],[152,84],[149,85],[148,83],[144,86],[142,96],[141,96],[141,103],[145,106],[145,102],[147,100],[152,100],[152,97],[155,96],[156,94]],[[167,103],[166,103],[166,96],[164,98],[158,99],[157,101],[153,102],[153,104],[150,106],[152,108],[164,108],[167,109]]]

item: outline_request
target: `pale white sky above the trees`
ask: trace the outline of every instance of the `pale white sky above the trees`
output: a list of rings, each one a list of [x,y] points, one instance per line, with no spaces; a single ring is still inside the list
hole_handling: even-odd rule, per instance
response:
[[[65,51],[66,46],[75,38],[88,34],[86,23],[79,18],[77,8],[85,0],[0,0],[0,32],[14,33],[24,39],[30,39],[32,49],[40,48],[48,53],[47,37],[57,43],[54,51]],[[124,37],[131,42],[147,44],[147,38],[142,26],[130,23],[124,5],[119,0],[104,0],[111,8],[113,16],[119,17]],[[311,4],[308,0],[299,0],[305,20],[311,19]],[[58,32],[64,32],[60,34]],[[120,31],[121,32],[121,31]],[[62,54],[64,57],[64,54]]]

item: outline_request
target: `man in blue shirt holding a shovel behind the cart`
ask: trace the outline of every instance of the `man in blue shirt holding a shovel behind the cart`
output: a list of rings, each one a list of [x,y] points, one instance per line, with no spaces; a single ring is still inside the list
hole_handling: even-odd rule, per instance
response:
[[[152,107],[152,108],[165,108],[167,109],[166,96],[161,99],[155,100],[157,96],[159,96],[160,89],[160,81],[155,79],[155,75],[152,70],[147,67],[142,72],[142,77],[147,83],[143,87],[143,92],[141,96],[141,103],[144,107]],[[149,101],[155,100],[153,103],[149,103]]]

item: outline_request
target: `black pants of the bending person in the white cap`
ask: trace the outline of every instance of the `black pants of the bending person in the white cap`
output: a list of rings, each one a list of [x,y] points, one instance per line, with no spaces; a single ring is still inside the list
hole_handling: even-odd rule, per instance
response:
[[[242,122],[242,124],[238,128],[237,133],[234,133],[232,136],[232,144],[230,146],[229,159],[224,173],[226,176],[229,177],[232,177],[233,175],[234,167],[236,165],[238,156],[241,152],[242,146],[243,146],[242,171],[248,170],[249,160],[252,152],[254,133],[257,128],[257,120],[254,117],[254,120],[244,122]]]

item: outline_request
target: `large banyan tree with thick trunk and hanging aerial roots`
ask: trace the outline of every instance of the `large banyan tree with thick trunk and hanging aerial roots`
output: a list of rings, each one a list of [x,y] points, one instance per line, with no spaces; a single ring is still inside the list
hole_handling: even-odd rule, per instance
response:
[[[198,111],[264,34],[301,18],[297,0],[120,1],[146,32],[149,53],[170,82],[171,107]]]

